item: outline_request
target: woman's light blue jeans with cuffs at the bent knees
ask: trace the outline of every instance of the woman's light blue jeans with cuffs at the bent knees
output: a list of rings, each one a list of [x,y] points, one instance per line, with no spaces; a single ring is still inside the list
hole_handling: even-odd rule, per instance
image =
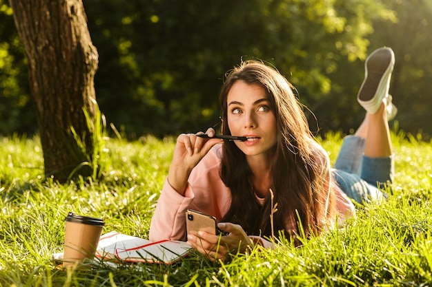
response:
[[[394,156],[364,156],[365,142],[358,136],[346,136],[332,169],[342,191],[360,204],[382,199],[384,193],[380,189],[393,182],[394,173]]]

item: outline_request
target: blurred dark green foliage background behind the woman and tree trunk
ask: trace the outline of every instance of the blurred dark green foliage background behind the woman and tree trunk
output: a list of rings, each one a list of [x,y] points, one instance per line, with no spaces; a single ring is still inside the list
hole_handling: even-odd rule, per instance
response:
[[[97,101],[128,138],[205,130],[219,122],[225,72],[242,59],[262,59],[297,87],[320,131],[349,133],[364,114],[355,100],[364,59],[387,45],[396,54],[391,94],[400,127],[432,134],[426,1],[85,1],[99,52]],[[5,0],[0,14],[0,134],[32,134],[25,56]]]

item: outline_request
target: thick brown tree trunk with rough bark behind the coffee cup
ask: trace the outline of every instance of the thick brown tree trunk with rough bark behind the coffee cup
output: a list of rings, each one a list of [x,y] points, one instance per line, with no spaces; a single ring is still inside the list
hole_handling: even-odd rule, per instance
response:
[[[45,173],[65,182],[93,151],[84,110],[95,117],[98,54],[84,6],[81,0],[10,0],[10,5],[26,49]],[[85,150],[71,127],[85,138]],[[90,176],[90,167],[84,165],[77,175]]]

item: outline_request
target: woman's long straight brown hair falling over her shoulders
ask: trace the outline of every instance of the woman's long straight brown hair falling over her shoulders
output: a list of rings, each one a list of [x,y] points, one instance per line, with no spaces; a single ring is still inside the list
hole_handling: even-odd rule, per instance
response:
[[[271,159],[271,189],[277,212],[271,226],[270,194],[264,206],[255,199],[253,174],[246,156],[235,143],[223,147],[221,178],[230,188],[232,202],[223,220],[240,224],[249,235],[271,236],[284,231],[293,236],[320,233],[328,217],[334,217],[334,195],[330,192],[328,156],[322,152],[308,128],[302,105],[293,86],[273,67],[259,61],[242,62],[225,78],[219,101],[222,134],[231,134],[227,120],[227,97],[236,81],[260,85],[266,91],[277,121],[277,143]],[[286,226],[293,226],[286,230]]]

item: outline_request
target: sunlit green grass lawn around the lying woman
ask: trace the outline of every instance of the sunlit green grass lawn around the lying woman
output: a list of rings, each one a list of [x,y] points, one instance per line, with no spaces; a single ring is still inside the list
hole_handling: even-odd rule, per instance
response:
[[[39,138],[0,138],[0,286],[431,286],[432,143],[393,132],[395,183],[389,200],[357,211],[346,227],[302,248],[283,242],[225,264],[192,253],[172,266],[86,264],[62,270],[68,211],[102,217],[104,233],[148,237],[173,139],[110,140],[100,182],[43,181]],[[334,161],[340,134],[320,139]]]

